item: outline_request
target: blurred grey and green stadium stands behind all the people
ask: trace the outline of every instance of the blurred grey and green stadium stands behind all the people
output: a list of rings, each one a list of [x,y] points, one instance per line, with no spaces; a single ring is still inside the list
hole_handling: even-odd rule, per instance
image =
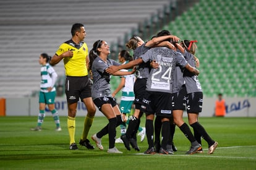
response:
[[[133,35],[148,40],[166,29],[182,40],[198,40],[204,95],[255,98],[255,8],[251,0],[0,1],[0,98],[37,96],[39,55],[53,56],[76,22],[85,25],[89,50],[96,40],[106,40],[112,59]],[[58,96],[64,96],[62,62],[54,69]]]

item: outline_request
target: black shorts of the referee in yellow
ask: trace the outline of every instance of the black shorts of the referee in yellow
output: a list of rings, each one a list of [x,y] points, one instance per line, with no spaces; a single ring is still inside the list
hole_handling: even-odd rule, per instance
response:
[[[67,76],[65,83],[67,103],[77,103],[84,98],[92,97],[92,82],[88,76],[73,77]]]

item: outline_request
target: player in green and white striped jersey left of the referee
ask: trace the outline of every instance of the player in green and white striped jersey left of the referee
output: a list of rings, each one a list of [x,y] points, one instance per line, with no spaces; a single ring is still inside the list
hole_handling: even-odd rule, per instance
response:
[[[30,130],[40,131],[43,119],[45,118],[45,107],[48,104],[48,108],[53,115],[54,122],[56,124],[56,131],[61,131],[59,122],[58,111],[55,109],[54,100],[56,96],[56,89],[54,84],[57,80],[58,75],[56,74],[53,67],[49,65],[51,57],[48,54],[43,53],[40,55],[39,64],[41,64],[41,84],[39,93],[39,114],[37,126]]]

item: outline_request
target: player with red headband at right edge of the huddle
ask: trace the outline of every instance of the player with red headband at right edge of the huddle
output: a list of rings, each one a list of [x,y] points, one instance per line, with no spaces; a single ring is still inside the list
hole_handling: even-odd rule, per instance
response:
[[[195,41],[183,40],[180,45],[184,48],[184,57],[191,66],[195,66]],[[212,154],[218,147],[218,142],[211,139],[207,131],[198,122],[198,115],[202,112],[203,105],[203,91],[198,80],[197,75],[191,74],[187,70],[184,70],[184,80],[186,82],[187,90],[187,114],[189,117],[189,124],[194,129],[195,139],[198,143],[201,143],[201,137],[208,143],[208,154]],[[200,151],[200,150],[198,150]]]

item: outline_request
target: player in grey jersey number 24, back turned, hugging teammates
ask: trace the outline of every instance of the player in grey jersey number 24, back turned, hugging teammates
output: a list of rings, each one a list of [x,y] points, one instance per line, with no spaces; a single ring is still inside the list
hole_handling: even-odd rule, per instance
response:
[[[169,117],[171,116],[171,91],[173,89],[173,72],[176,65],[186,67],[190,72],[198,74],[198,70],[191,67],[184,59],[181,53],[169,48],[152,48],[134,61],[122,65],[123,67],[131,67],[142,62],[156,61],[159,65],[158,69],[151,69],[147,79],[146,90],[148,98],[143,100],[143,106],[146,107],[146,133],[148,140],[148,149],[145,154],[156,153],[153,143],[153,119],[154,114],[161,116],[162,136],[160,154],[168,155],[166,145],[169,139]],[[124,69],[126,68],[124,67]],[[144,104],[146,103],[146,104]],[[147,122],[150,122],[147,124]]]

